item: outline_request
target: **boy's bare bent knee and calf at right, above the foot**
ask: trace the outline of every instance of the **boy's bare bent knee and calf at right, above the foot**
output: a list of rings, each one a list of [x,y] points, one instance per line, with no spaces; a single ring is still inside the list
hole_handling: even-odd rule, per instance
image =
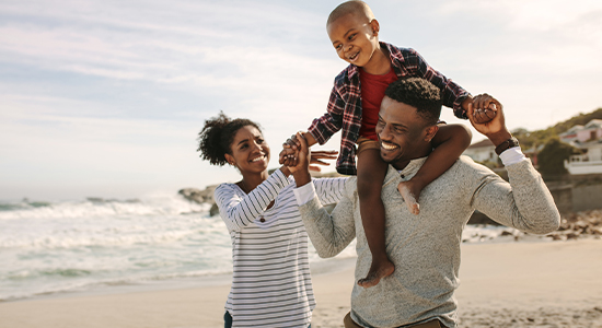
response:
[[[471,145],[472,132],[462,125],[441,125],[431,140],[435,150],[412,178],[418,190],[441,176]],[[419,195],[416,195],[418,197]]]

